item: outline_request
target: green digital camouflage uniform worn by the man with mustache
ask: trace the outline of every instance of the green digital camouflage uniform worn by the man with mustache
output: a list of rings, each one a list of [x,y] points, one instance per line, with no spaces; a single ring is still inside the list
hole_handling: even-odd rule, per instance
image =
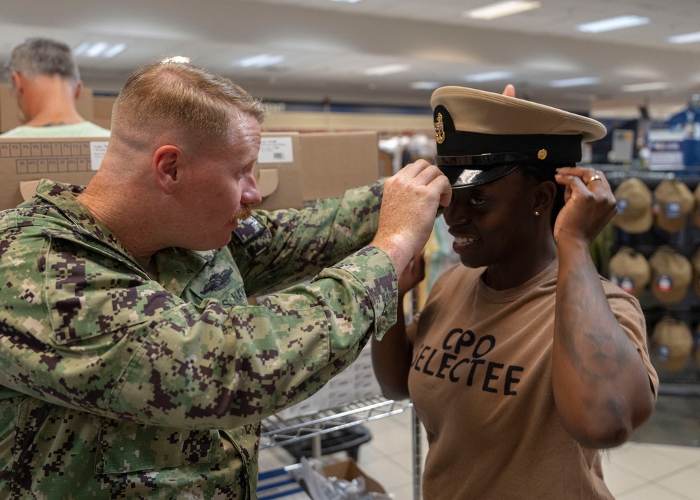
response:
[[[80,189],[0,212],[0,496],[255,499],[259,422],[395,320],[393,265],[362,249],[381,183],[162,250],[158,282]]]

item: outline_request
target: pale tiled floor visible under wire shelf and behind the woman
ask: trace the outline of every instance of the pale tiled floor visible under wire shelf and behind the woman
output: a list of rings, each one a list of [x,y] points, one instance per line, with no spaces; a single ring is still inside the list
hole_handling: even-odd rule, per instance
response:
[[[372,440],[360,446],[358,464],[395,500],[414,496],[412,412],[364,424]],[[421,439],[423,452],[427,449]],[[323,457],[346,458],[346,453]],[[260,452],[260,471],[293,464],[282,447]],[[661,395],[652,418],[621,447],[603,457],[605,481],[616,499],[700,500],[700,396]]]

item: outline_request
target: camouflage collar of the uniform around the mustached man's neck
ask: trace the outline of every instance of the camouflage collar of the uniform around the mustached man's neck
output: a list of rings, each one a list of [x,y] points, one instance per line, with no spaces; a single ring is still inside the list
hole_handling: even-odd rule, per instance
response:
[[[97,221],[87,207],[78,201],[78,195],[83,193],[84,190],[85,186],[42,179],[38,183],[34,195],[57,207],[71,221],[75,232],[78,232],[83,237],[95,239],[101,244],[109,245],[111,249],[127,257],[131,263],[141,269],[141,265],[137,263],[134,256],[113,232]],[[187,249],[165,249],[165,252],[171,258],[176,254],[180,260],[190,261],[188,266],[190,268],[200,268],[211,261],[216,254],[216,251],[193,251]],[[158,254],[160,253],[161,251],[158,252]]]

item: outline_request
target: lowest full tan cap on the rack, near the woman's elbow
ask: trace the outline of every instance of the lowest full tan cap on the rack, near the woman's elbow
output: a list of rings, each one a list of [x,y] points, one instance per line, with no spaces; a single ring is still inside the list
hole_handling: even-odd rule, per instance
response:
[[[683,321],[663,317],[654,325],[651,352],[661,368],[678,371],[685,368],[693,349],[693,334]]]

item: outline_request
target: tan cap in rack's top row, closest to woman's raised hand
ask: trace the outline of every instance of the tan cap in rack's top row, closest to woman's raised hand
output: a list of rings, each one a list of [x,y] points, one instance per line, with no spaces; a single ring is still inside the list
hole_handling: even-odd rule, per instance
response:
[[[652,212],[652,192],[643,181],[630,177],[615,189],[617,214],[612,224],[625,232],[639,234],[647,232],[654,225]]]

